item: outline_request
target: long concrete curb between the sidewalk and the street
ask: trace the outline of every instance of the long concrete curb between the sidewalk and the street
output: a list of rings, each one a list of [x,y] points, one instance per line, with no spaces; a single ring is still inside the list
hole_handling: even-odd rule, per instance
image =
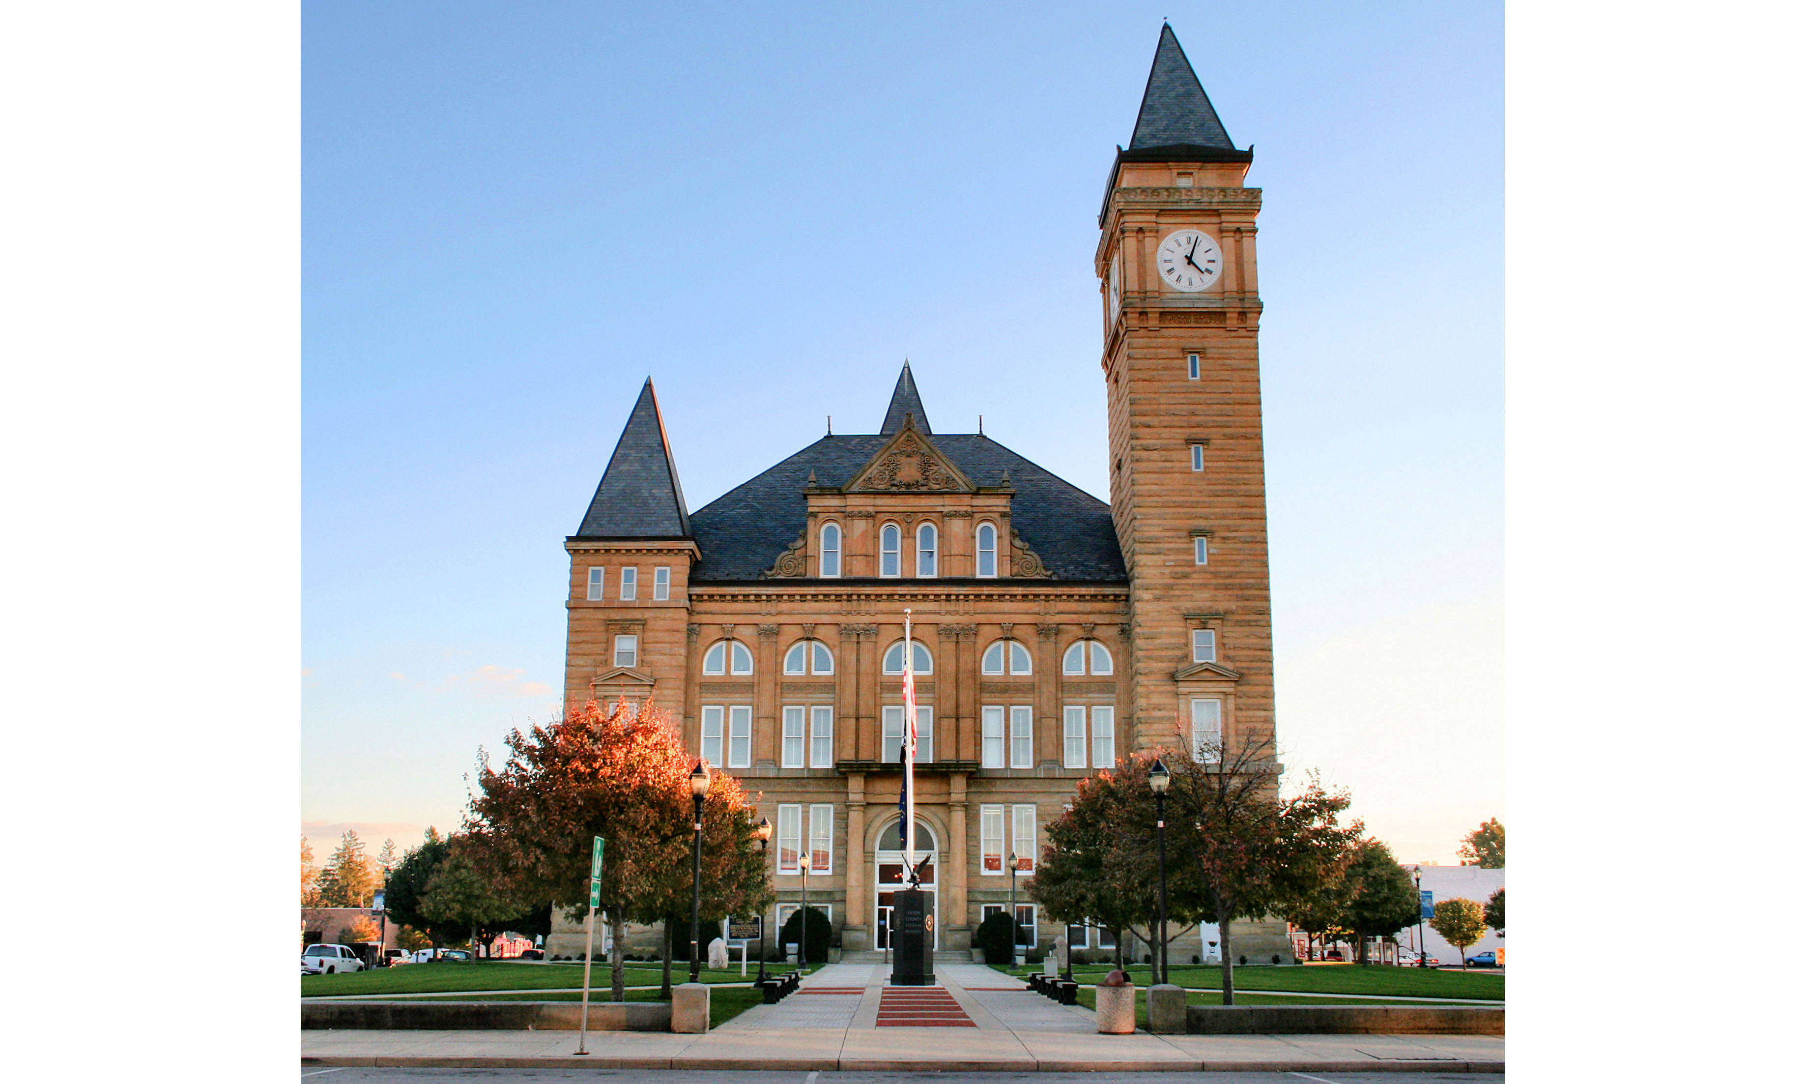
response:
[[[433,1070],[778,1070],[863,1073],[1504,1073],[1503,1061],[878,1061],[742,1057],[302,1057],[303,1066]]]

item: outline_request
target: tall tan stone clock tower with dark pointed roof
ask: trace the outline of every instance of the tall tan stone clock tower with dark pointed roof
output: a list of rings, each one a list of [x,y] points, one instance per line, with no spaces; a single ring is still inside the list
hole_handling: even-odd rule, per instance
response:
[[[1163,25],[1096,251],[1131,748],[1273,741],[1252,161]]]

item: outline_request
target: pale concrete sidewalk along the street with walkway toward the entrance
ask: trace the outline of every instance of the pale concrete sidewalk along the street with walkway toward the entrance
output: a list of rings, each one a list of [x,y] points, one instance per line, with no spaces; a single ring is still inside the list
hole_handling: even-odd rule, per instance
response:
[[[936,968],[975,1028],[876,1028],[885,968],[831,965],[798,994],[706,1035],[592,1032],[302,1032],[316,1066],[854,1071],[1504,1071],[1495,1035],[1098,1035],[977,965]],[[818,990],[805,994],[805,990]],[[825,1026],[824,1026],[825,1024]]]

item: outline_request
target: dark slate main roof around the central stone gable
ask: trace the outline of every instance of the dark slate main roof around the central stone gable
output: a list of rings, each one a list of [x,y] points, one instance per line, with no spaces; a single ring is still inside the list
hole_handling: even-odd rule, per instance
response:
[[[986,435],[941,434],[930,439],[975,486],[1001,486],[1004,472],[1010,472],[1015,488],[1010,524],[1057,580],[1129,578],[1109,504]],[[843,486],[889,441],[885,434],[822,437],[699,508],[690,517],[690,529],[703,560],[690,571],[690,580],[757,580],[796,542],[807,522],[804,486],[809,484],[809,472],[820,486]]]

